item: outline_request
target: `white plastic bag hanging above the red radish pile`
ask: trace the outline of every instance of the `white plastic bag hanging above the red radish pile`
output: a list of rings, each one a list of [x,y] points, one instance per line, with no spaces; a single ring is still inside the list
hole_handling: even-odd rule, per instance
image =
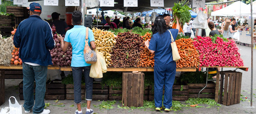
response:
[[[207,23],[207,15],[204,14],[202,11],[199,11],[198,15],[194,19],[192,23],[193,28],[201,28],[201,29],[206,29],[208,28],[208,23]]]

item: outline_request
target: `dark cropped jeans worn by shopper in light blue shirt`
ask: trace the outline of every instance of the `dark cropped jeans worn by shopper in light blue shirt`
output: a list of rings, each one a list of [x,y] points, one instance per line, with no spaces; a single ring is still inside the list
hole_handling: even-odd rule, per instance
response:
[[[92,84],[93,78],[89,76],[91,66],[88,67],[71,67],[74,81],[74,101],[76,104],[82,102],[81,100],[81,80],[82,74],[84,74],[85,89],[86,89],[86,100],[92,100]],[[84,72],[83,72],[84,71]]]

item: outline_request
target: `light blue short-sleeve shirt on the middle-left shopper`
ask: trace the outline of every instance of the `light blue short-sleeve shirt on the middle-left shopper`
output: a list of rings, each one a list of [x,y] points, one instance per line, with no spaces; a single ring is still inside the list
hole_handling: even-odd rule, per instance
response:
[[[91,65],[84,60],[85,37],[86,27],[82,25],[75,25],[72,29],[66,32],[64,41],[70,42],[72,46],[71,67],[87,67]],[[89,42],[95,41],[93,32],[90,28],[88,32],[88,40]],[[91,46],[90,43],[88,44]]]

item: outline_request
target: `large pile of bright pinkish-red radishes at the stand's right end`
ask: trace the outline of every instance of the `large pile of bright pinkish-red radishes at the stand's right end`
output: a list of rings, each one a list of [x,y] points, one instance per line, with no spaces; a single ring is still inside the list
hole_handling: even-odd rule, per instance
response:
[[[200,67],[243,66],[243,60],[241,59],[238,47],[233,40],[225,42],[222,38],[217,37],[215,43],[213,43],[210,37],[198,36],[194,39],[193,43],[200,54]]]

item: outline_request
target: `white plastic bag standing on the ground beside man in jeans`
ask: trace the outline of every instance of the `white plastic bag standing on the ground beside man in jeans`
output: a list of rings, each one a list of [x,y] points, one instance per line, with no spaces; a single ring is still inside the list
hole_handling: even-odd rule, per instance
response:
[[[11,98],[15,99],[15,104],[11,103]],[[22,114],[22,108],[21,105],[19,105],[18,101],[15,97],[11,96],[9,98],[9,108],[10,108],[10,114]]]

